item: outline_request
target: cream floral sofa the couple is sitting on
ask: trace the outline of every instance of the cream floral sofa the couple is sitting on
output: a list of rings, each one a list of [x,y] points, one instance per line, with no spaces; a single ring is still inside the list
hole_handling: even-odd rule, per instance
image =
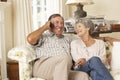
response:
[[[105,42],[105,44],[106,44],[106,57],[108,59],[108,62],[110,63],[112,46],[110,45],[109,42]],[[32,65],[34,64],[36,55],[35,51],[32,49],[30,45],[23,45],[12,48],[8,52],[8,58],[19,63],[20,80],[45,80],[42,78],[32,77]],[[110,68],[109,70],[111,71]],[[115,73],[114,71],[111,71],[111,74],[113,75],[114,80],[118,80],[118,78],[120,79],[120,76],[115,77],[116,74],[120,73]]]

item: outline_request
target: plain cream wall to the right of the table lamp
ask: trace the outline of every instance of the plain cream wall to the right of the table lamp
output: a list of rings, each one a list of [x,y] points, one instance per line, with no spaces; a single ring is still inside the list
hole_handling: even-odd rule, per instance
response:
[[[86,6],[90,15],[104,15],[106,19],[120,20],[120,0],[93,0],[95,4]]]

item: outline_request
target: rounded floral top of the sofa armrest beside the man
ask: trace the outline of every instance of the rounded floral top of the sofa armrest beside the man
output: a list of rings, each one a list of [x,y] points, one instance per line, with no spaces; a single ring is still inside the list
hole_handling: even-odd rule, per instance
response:
[[[36,59],[36,54],[31,46],[17,46],[9,50],[8,58],[20,62],[29,63]]]

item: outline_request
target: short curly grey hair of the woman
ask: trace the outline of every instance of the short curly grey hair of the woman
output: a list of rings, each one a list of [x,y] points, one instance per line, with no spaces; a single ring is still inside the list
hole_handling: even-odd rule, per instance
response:
[[[89,28],[90,35],[94,33],[95,25],[90,18],[79,18],[75,21],[75,24],[78,24],[78,23],[82,23],[83,25],[85,25],[86,28]]]

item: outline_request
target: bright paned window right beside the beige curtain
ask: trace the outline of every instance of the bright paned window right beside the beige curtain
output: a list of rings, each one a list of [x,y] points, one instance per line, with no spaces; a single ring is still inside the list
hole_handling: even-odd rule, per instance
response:
[[[34,29],[44,24],[46,21],[46,0],[33,0],[32,2],[33,11],[33,25]]]

